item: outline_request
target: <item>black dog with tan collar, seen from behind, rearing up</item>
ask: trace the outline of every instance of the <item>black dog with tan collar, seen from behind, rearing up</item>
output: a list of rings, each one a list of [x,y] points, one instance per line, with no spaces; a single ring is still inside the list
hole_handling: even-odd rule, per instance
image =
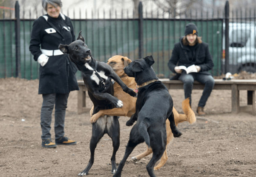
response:
[[[170,121],[174,137],[182,135],[175,126],[172,98],[166,86],[156,77],[151,67],[153,63],[153,57],[148,56],[144,59],[135,60],[124,68],[125,73],[129,77],[134,77],[139,85],[136,112],[127,121],[127,125],[132,125],[136,120],[137,122],[131,129],[125,155],[113,177],[121,176],[126,159],[133,149],[144,141],[153,151],[153,156],[147,165],[147,171],[149,176],[155,177],[154,165],[162,157],[166,147],[165,122],[167,118]]]

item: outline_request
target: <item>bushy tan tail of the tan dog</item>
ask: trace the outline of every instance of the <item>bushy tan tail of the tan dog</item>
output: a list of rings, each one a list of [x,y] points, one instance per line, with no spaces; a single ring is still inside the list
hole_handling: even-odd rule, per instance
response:
[[[176,117],[175,117],[175,124],[176,125],[178,123],[181,123],[181,122],[184,122],[184,121],[187,121],[191,124],[196,121],[195,113],[189,105],[189,98],[182,101],[182,110],[183,110],[184,114],[179,114],[179,116],[177,116],[178,119],[176,119]]]

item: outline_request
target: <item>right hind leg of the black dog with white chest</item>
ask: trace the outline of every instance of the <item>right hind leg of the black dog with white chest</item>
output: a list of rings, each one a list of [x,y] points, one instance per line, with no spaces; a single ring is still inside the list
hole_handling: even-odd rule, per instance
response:
[[[113,154],[111,156],[111,165],[112,170],[111,174],[115,174],[116,172],[116,162],[115,162],[115,155],[120,146],[120,125],[117,116],[113,117],[112,125],[108,127],[108,136],[112,139],[113,145]]]

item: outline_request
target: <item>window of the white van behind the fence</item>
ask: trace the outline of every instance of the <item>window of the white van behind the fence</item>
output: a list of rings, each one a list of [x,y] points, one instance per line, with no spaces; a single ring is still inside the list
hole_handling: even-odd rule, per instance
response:
[[[244,47],[250,37],[250,30],[232,30],[229,37],[230,47]]]

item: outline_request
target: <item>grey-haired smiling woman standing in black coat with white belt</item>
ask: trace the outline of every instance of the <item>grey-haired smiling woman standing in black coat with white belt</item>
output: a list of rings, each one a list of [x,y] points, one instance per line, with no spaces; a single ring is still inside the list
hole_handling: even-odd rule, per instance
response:
[[[64,136],[64,121],[70,91],[79,90],[76,66],[63,54],[59,44],[69,45],[76,40],[70,18],[60,13],[61,0],[42,0],[46,15],[33,23],[29,51],[40,63],[39,90],[41,108],[42,147],[55,148],[56,144],[74,145],[77,142]],[[41,49],[40,49],[41,46]],[[55,105],[55,143],[51,140],[51,114]]]

